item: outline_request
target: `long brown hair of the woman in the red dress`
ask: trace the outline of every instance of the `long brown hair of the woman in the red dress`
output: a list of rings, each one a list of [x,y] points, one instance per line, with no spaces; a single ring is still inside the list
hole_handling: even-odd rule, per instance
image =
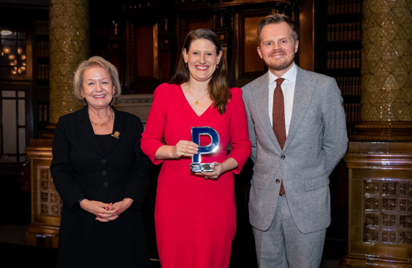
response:
[[[198,39],[205,39],[212,42],[216,49],[217,55],[220,51],[222,52],[222,57],[220,58],[220,62],[218,64],[219,68],[214,70],[208,84],[209,98],[213,101],[212,108],[217,108],[217,111],[220,115],[222,115],[226,112],[227,102],[232,99],[232,93],[229,90],[229,73],[226,59],[223,54],[222,44],[214,32],[207,29],[197,29],[188,33],[182,48],[179,62],[177,64],[176,72],[170,79],[169,84],[180,85],[189,81],[190,73],[189,68],[186,67],[186,63],[183,58],[183,51],[186,49],[187,53],[189,53],[190,45],[193,41]]]

